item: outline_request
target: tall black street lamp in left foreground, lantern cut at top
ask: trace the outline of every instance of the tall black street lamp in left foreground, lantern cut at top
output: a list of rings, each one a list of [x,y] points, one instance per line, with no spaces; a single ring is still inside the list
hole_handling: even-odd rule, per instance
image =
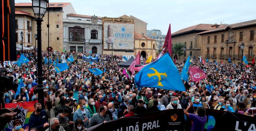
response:
[[[38,63],[38,86],[36,87],[38,91],[38,102],[42,104],[42,108],[45,108],[44,97],[43,97],[43,71],[42,71],[42,36],[41,36],[41,24],[43,17],[47,10],[48,0],[32,0],[32,8],[35,14],[35,21],[37,24],[37,63]]]

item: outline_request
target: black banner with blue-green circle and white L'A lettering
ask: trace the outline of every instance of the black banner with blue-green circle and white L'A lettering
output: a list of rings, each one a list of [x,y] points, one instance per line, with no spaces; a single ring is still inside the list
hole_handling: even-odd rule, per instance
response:
[[[206,131],[256,131],[256,117],[206,109]]]

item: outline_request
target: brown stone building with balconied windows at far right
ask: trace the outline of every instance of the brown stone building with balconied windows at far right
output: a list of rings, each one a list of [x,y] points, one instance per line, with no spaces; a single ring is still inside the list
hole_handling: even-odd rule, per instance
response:
[[[242,59],[241,44],[245,48],[243,55],[252,63],[256,54],[256,20],[231,25],[223,25],[216,29],[198,33],[202,36],[202,57],[209,61],[240,63]]]

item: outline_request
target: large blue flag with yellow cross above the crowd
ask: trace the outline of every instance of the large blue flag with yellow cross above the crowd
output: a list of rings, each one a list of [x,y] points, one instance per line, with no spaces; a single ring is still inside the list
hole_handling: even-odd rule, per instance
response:
[[[138,87],[185,91],[180,72],[169,53],[142,68],[135,76],[135,84]]]

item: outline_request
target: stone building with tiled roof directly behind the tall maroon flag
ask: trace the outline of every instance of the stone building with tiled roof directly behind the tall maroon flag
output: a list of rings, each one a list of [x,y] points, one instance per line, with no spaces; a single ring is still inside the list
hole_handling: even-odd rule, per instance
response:
[[[193,59],[198,59],[202,50],[202,38],[198,33],[214,28],[216,28],[216,26],[212,24],[198,24],[178,30],[171,34],[171,43],[173,45],[176,43],[184,44],[186,48],[184,57],[187,58],[190,55]],[[183,59],[183,55],[180,56],[180,59]]]

